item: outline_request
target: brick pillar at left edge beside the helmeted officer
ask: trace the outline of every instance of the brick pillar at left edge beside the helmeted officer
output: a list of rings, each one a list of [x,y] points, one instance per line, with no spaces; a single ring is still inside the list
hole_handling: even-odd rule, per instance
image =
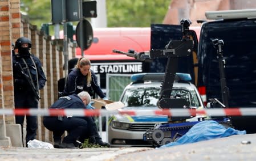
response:
[[[12,7],[14,1],[0,1],[0,44],[1,44],[1,108],[13,108],[13,68],[11,63],[11,21],[17,20],[19,14],[14,12]],[[15,1],[16,3],[16,1]],[[6,116],[5,122],[13,124],[14,116]]]

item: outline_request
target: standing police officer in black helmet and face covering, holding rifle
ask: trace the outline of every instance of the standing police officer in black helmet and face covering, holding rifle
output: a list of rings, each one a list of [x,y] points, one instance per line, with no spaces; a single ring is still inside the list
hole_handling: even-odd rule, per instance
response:
[[[27,37],[17,39],[15,49],[18,49],[18,53],[13,56],[15,109],[38,108],[39,90],[46,83],[46,76],[43,73],[41,62],[38,57],[30,53],[31,40]],[[24,118],[25,116],[15,116],[16,124],[21,124],[22,129]],[[27,145],[27,142],[36,138],[38,123],[36,116],[26,116],[26,120]]]

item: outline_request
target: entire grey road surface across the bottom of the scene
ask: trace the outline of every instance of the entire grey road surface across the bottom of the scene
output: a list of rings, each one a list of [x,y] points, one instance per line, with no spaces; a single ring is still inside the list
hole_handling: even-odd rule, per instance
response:
[[[0,160],[256,160],[256,134],[233,135],[165,149],[0,147]]]

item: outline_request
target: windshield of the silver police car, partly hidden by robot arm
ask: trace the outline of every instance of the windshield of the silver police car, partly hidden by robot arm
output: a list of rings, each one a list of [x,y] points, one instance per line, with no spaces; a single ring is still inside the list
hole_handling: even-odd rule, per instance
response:
[[[160,88],[157,87],[128,88],[121,101],[125,107],[156,107],[159,93]],[[196,92],[193,90],[173,88],[171,96],[187,100],[191,107],[200,106]]]

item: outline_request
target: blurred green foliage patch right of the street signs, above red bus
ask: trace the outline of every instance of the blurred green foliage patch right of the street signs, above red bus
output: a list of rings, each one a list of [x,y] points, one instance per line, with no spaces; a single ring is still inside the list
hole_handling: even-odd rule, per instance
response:
[[[167,0],[106,0],[108,27],[150,27],[162,23],[168,11]]]

